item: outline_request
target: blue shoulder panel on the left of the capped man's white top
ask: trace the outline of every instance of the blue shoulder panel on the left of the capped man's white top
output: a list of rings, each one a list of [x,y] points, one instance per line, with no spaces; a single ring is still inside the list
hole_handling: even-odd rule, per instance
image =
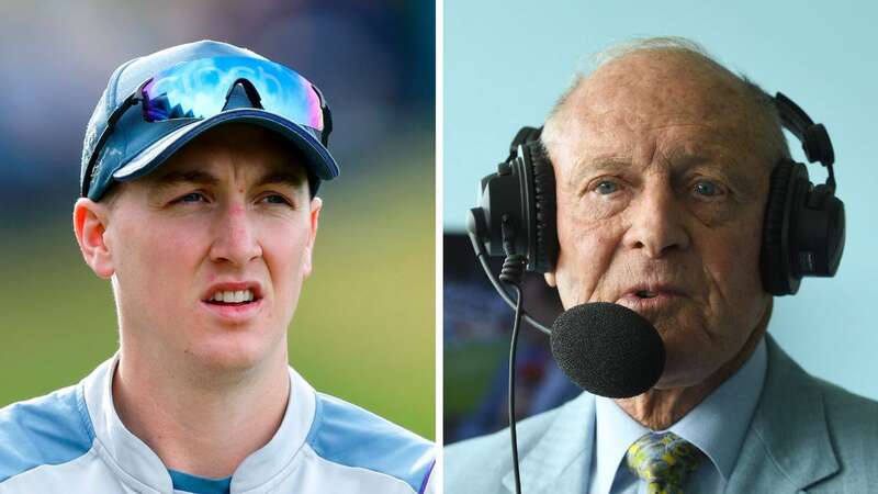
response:
[[[0,409],[0,483],[86,454],[94,438],[81,386]]]

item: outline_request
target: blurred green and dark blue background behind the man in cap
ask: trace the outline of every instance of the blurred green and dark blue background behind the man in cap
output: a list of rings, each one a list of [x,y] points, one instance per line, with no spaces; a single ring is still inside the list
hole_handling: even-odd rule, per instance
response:
[[[108,282],[70,222],[82,136],[110,72],[213,38],[290,65],[333,108],[290,359],[316,388],[435,436],[431,1],[0,2],[0,406],[78,382],[116,348]]]

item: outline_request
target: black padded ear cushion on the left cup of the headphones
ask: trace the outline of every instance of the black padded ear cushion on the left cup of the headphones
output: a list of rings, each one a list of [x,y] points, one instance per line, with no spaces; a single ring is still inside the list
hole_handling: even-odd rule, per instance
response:
[[[529,164],[529,171],[533,178],[533,204],[537,209],[533,215],[537,218],[533,270],[548,272],[554,269],[558,260],[555,173],[542,143],[531,141],[522,147],[528,154],[525,162]]]

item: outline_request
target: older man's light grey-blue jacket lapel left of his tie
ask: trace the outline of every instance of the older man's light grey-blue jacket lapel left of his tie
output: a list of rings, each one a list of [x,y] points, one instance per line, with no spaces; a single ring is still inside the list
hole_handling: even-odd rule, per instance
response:
[[[545,434],[520,459],[521,491],[582,492],[589,482],[595,438],[595,397],[588,393],[563,405]],[[515,492],[515,473],[503,478]]]

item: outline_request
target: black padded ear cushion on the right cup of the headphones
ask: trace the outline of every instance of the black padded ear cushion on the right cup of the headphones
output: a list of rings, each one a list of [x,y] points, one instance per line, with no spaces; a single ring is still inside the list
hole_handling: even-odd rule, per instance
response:
[[[765,207],[762,252],[759,255],[759,272],[765,291],[773,295],[787,295],[798,290],[798,283],[790,273],[789,247],[792,234],[789,228],[788,202],[795,182],[796,167],[793,161],[784,159],[772,171],[768,187],[768,202]]]

